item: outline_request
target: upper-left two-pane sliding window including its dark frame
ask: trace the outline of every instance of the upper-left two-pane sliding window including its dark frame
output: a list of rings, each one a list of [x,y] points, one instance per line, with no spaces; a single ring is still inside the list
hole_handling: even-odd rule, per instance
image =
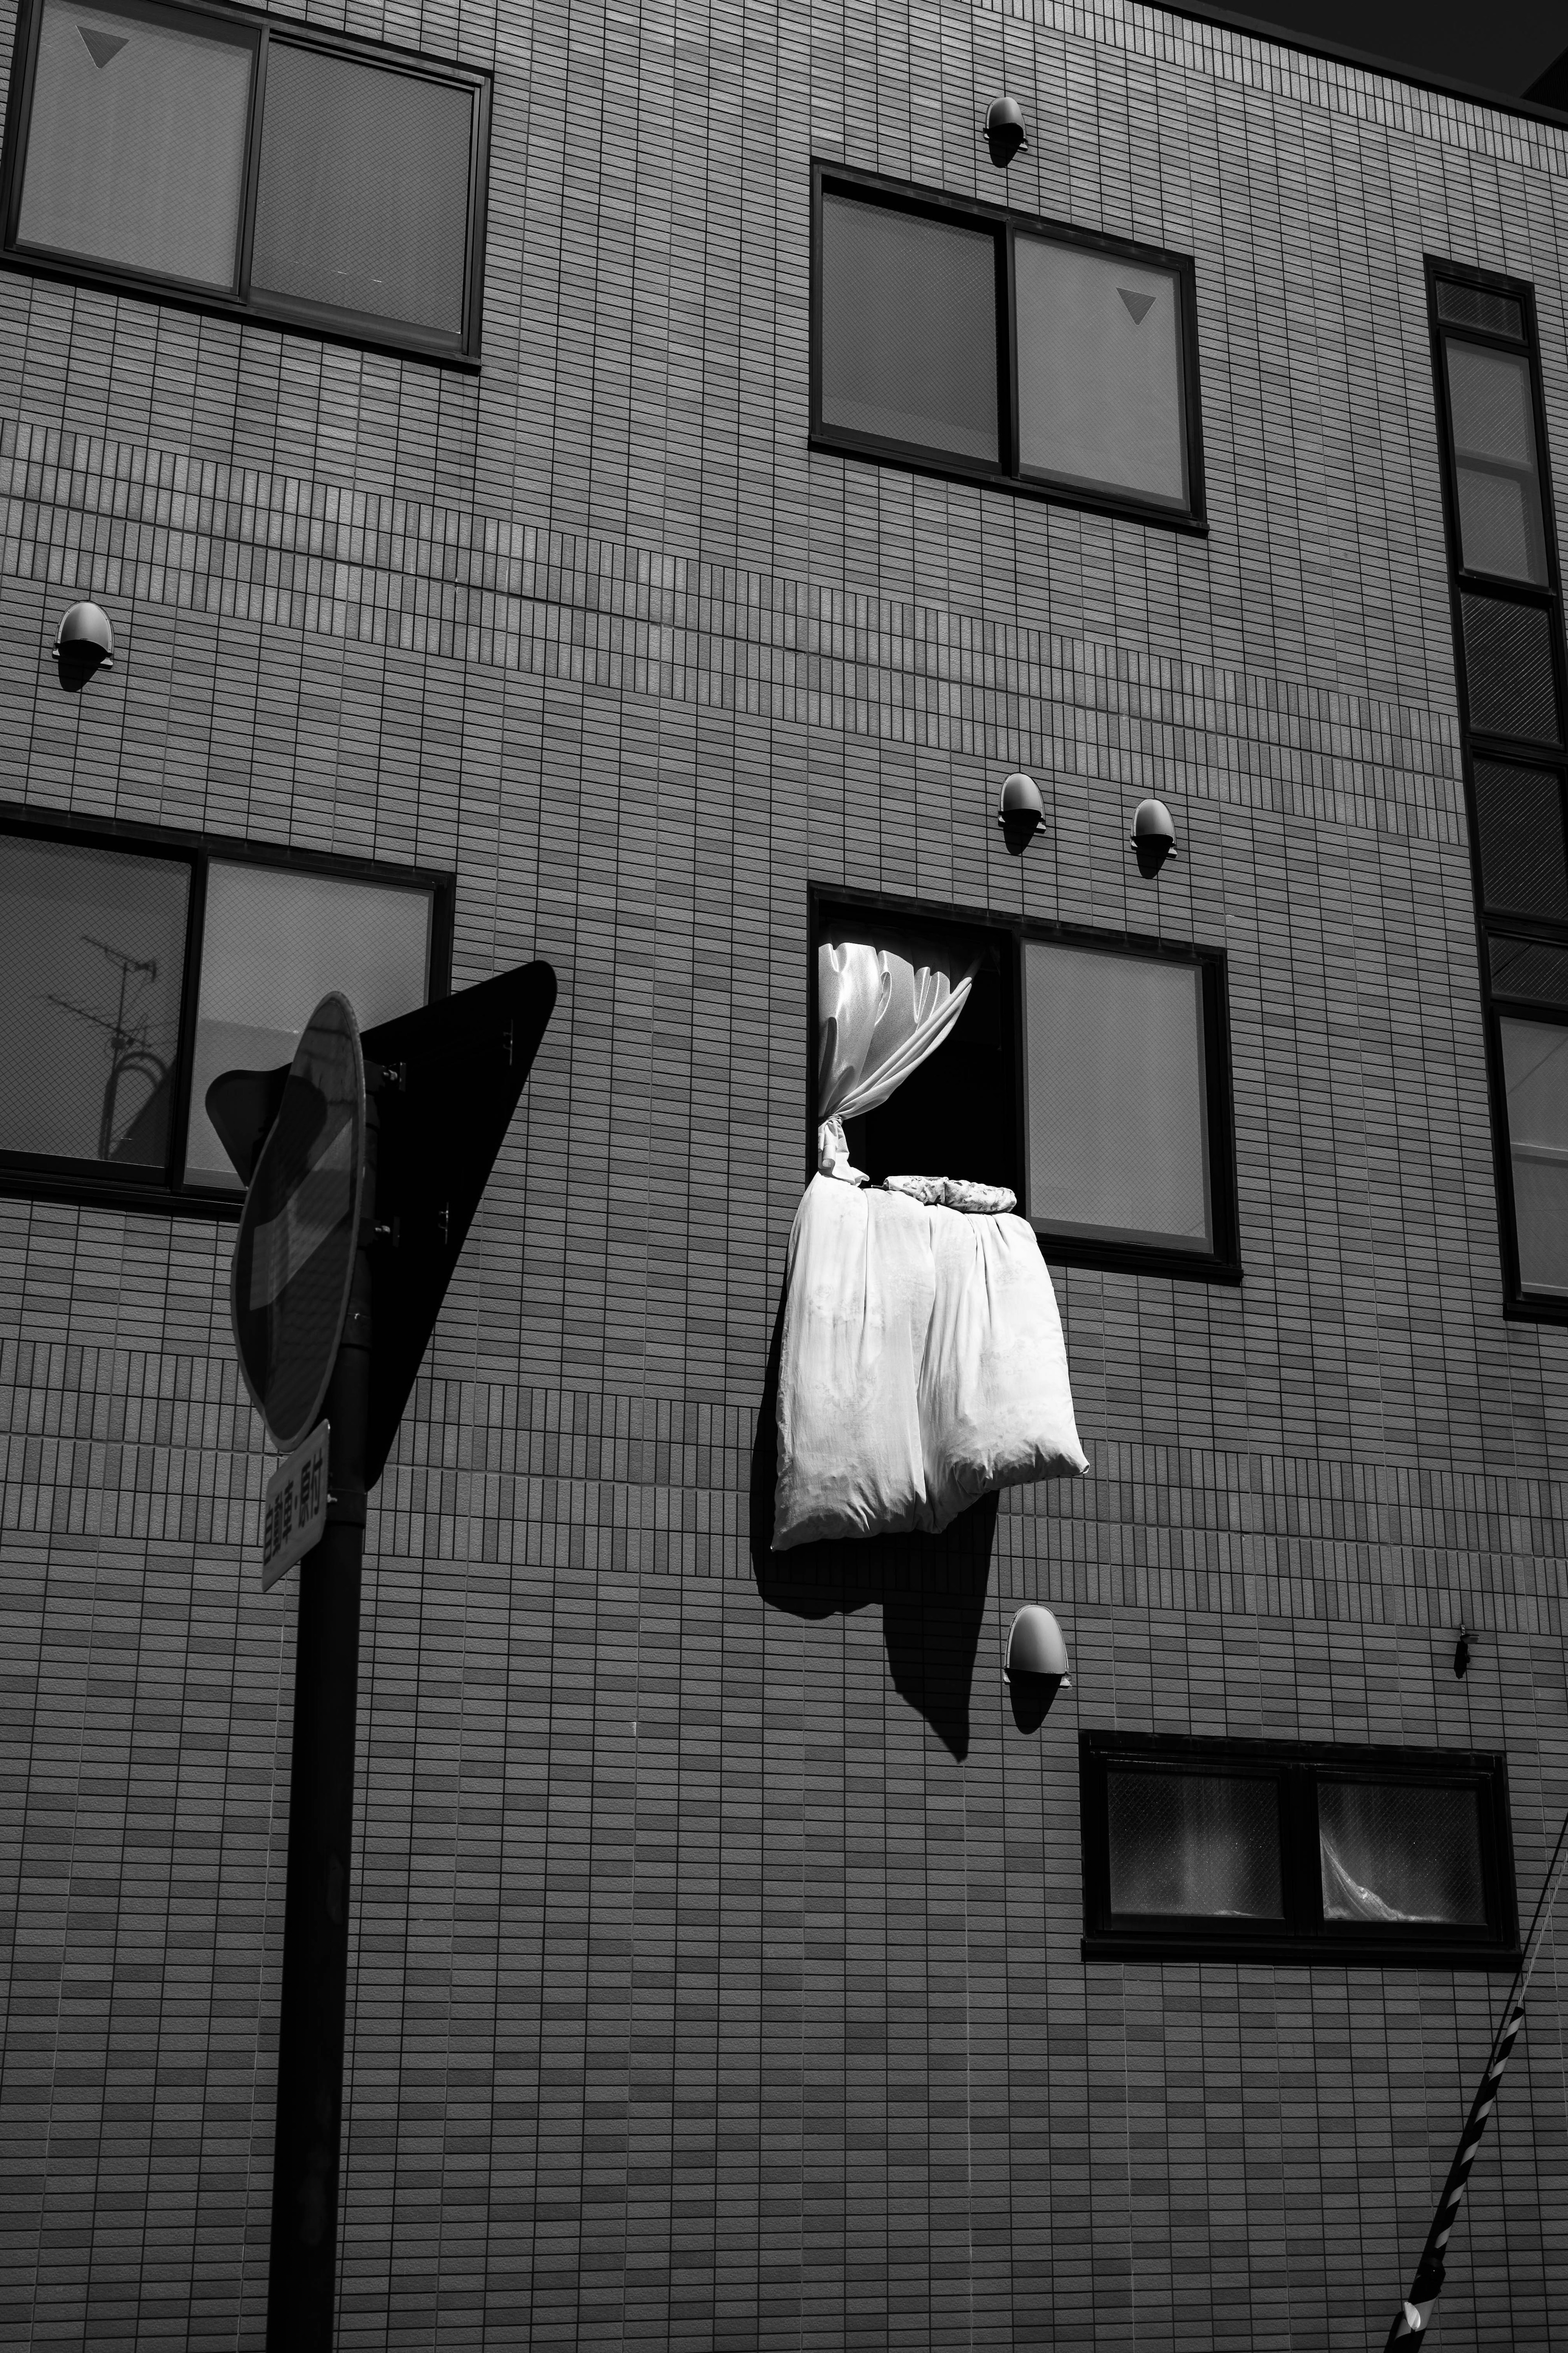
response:
[[[484,75],[219,7],[31,0],[5,256],[473,360]]]

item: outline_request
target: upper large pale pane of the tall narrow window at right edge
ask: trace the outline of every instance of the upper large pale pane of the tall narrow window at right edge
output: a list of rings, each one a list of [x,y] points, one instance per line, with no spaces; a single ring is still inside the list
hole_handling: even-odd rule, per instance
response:
[[[1547,581],[1530,362],[1448,339],[1460,548],[1472,572]]]

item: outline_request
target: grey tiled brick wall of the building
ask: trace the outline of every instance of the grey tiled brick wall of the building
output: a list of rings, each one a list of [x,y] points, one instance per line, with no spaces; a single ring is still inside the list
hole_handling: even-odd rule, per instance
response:
[[[494,66],[484,372],[0,275],[0,791],[451,868],[458,984],[562,981],[371,1527],[341,2341],[1380,2341],[1500,1988],[1086,1972],[1074,1734],[1507,1746],[1526,1899],[1568,1805],[1422,285],[1535,282],[1568,482],[1568,134],[1126,5],[306,14]],[[1013,202],[1197,256],[1204,541],[806,452],[811,155],[994,198],[1004,87]],[[1093,1480],[837,1595],[750,1546],[809,878],[1227,946],[1246,1264],[1058,1273]],[[16,2344],[261,2341],[228,1240],[0,1202]],[[1446,2344],[1554,2337],[1556,2007],[1549,1951]]]

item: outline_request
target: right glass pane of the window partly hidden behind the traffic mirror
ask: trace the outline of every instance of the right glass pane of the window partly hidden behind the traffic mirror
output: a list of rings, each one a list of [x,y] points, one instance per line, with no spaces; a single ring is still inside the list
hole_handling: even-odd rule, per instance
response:
[[[207,1087],[219,1073],[292,1061],[306,1021],[331,988],[348,998],[360,1028],[407,1014],[425,1002],[428,969],[428,892],[214,859],[186,1179],[240,1191],[207,1118]]]

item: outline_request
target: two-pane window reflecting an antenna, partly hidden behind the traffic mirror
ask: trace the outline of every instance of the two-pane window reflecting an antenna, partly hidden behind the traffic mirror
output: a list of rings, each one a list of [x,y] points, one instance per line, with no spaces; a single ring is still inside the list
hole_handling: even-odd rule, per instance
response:
[[[221,1071],[289,1061],[329,988],[371,1028],[444,993],[449,885],[0,814],[0,1191],[237,1212]]]

